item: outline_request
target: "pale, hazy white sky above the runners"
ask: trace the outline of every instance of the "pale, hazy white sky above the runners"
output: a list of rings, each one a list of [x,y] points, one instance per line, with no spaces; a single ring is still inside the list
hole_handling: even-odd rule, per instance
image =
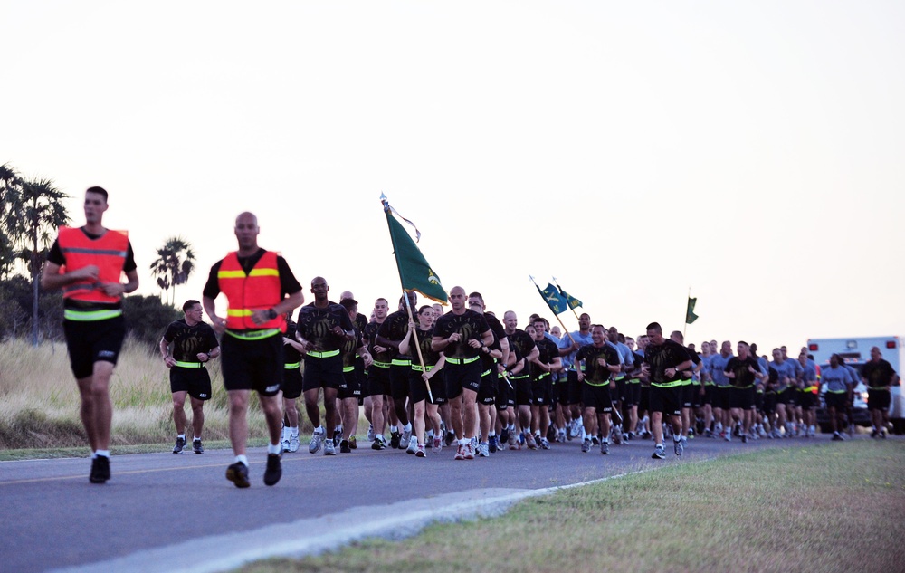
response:
[[[110,192],[140,293],[258,215],[306,298],[400,291],[379,196],[448,289],[762,349],[905,334],[905,3],[0,0],[0,163]],[[225,304],[223,304],[225,306]],[[568,329],[576,319],[561,315]]]

